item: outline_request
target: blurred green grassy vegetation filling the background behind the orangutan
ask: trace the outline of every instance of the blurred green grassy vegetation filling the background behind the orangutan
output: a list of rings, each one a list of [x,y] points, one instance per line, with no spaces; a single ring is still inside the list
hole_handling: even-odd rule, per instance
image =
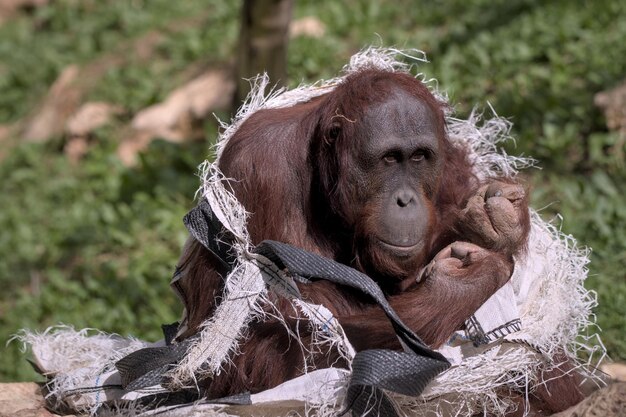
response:
[[[115,154],[118,128],[187,68],[232,61],[239,6],[57,0],[0,25],[0,125],[31,114],[67,65],[165,35],[148,62],[127,57],[89,91],[124,113],[94,133],[79,163],[62,152],[63,137],[0,148],[0,341],[57,323],[158,339],[160,324],[178,318],[168,281],[217,127],[206,120],[204,142],[154,141],[133,167]],[[326,31],[292,39],[292,85],[335,75],[368,44],[419,48],[431,61],[419,69],[460,115],[490,103],[514,122],[517,145],[507,150],[542,167],[527,173],[534,207],[548,219],[562,213],[562,229],[593,248],[587,285],[598,292],[598,324],[610,355],[625,360],[626,149],[593,97],[626,78],[626,3],[299,0],[294,18],[303,16]],[[174,31],[173,22],[183,24]],[[2,348],[0,381],[34,378],[15,344]]]

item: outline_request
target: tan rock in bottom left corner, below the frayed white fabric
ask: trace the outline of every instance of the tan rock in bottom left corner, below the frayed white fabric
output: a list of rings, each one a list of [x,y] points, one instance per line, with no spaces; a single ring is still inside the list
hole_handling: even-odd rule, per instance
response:
[[[0,417],[53,417],[34,382],[0,384]]]

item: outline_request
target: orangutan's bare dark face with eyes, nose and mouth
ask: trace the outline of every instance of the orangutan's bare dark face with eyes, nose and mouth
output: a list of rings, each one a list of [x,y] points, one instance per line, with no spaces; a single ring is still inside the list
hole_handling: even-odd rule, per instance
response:
[[[396,90],[356,124],[359,146],[345,175],[362,225],[357,239],[367,248],[361,259],[383,274],[415,269],[430,252],[437,224],[433,201],[444,158],[435,114]]]

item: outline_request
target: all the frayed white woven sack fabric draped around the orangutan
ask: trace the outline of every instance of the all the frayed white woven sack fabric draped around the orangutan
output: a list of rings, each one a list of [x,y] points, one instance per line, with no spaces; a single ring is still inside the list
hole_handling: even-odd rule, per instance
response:
[[[408,59],[399,60],[399,57]],[[343,82],[347,75],[364,68],[408,73],[418,62],[426,62],[421,51],[372,47],[353,56],[340,77],[314,85],[301,85],[290,91],[273,90],[267,95],[264,92],[268,77],[261,75],[252,80],[252,92],[231,123],[222,123],[223,133],[215,147],[215,159],[219,161],[228,140],[251,114],[260,109],[292,106],[326,94]],[[446,96],[437,90],[436,81],[425,80],[420,74],[417,77],[439,99],[446,100]],[[483,120],[478,111],[472,112],[467,120],[446,114],[450,140],[469,149],[470,160],[480,179],[513,177],[518,170],[534,163],[531,158],[510,156],[498,148],[499,143],[510,140],[511,124],[493,113],[494,116],[487,120]],[[237,351],[247,324],[255,318],[276,314],[275,310],[268,313],[272,311],[268,308],[271,307],[268,291],[291,299],[294,311],[300,311],[309,319],[314,329],[314,348],[335,348],[349,362],[354,357],[354,349],[330,311],[324,306],[300,300],[293,278],[268,259],[252,252],[253,246],[246,230],[247,213],[225,187],[228,179],[221,175],[217,164],[205,162],[201,166],[202,186],[199,193],[235,236],[233,251],[236,263],[226,278],[223,301],[213,317],[202,324],[200,338],[187,356],[168,374],[171,381],[168,388],[194,386],[197,379],[218,374]],[[510,288],[505,292],[505,298],[497,303],[505,305],[506,298],[510,298],[521,320],[521,329],[480,347],[473,347],[462,334],[453,337],[441,349],[453,363],[449,370],[439,375],[420,398],[394,395],[402,413],[409,415],[419,411],[442,417],[474,413],[504,414],[514,405],[499,398],[497,391],[503,387],[517,388],[528,396],[543,382],[536,369],[544,366],[557,352],[564,352],[574,360],[579,372],[590,379],[595,378],[588,370],[592,369],[592,364],[598,364],[603,359],[605,350],[593,329],[591,311],[596,305],[595,294],[583,286],[589,252],[579,248],[572,236],[564,235],[557,226],[545,222],[533,210],[531,224],[527,255],[516,259]],[[52,391],[56,396],[61,394],[61,397],[75,388],[94,386],[95,376],[112,371],[116,360],[147,346],[135,340],[121,341],[115,335],[98,333],[87,336],[85,330],[76,332],[66,327],[48,329],[41,334],[24,331],[17,338],[32,347],[39,366],[46,374],[54,376]],[[312,351],[310,346],[303,348],[303,352]],[[326,416],[340,411],[343,398],[340,388],[345,387],[349,370],[305,371],[304,377],[300,377],[304,379],[288,381],[259,395],[257,401],[284,399],[283,395],[290,391],[306,391],[307,395],[298,399],[306,403],[307,414]],[[290,386],[290,383],[293,385]],[[308,390],[295,387],[307,387]],[[92,396],[85,398],[80,404],[82,408],[77,407],[77,410],[94,413],[99,404]],[[198,405],[190,407],[193,409],[188,408],[189,414],[186,415],[195,415],[192,411],[199,410]],[[218,415],[217,412],[215,415]]]

